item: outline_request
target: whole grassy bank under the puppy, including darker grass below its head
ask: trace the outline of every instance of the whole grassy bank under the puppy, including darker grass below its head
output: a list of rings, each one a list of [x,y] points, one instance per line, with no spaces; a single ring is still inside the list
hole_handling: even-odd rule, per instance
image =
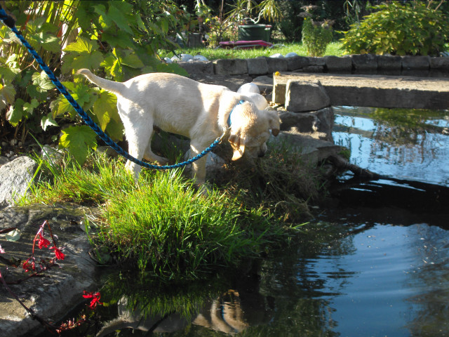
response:
[[[319,195],[319,175],[286,147],[240,165],[205,197],[182,170],[142,170],[135,182],[123,159],[98,152],[83,166],[41,160],[22,203],[98,206],[98,223],[86,223],[100,260],[114,256],[166,281],[197,279],[288,242],[307,219],[307,200]]]

